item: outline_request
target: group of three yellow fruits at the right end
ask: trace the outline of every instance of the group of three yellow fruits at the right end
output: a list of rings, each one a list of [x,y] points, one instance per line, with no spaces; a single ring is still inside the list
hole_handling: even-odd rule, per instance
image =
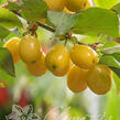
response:
[[[81,92],[87,86],[97,95],[110,90],[112,72],[106,65],[97,65],[99,58],[95,50],[87,45],[75,45],[69,55],[75,64],[67,75],[67,85],[72,91]]]

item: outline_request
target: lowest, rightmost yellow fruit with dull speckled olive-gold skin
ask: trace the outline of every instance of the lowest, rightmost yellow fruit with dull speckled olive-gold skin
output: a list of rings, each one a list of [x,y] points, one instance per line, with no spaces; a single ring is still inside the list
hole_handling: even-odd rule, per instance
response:
[[[88,87],[97,95],[105,95],[111,88],[112,72],[106,65],[96,65],[86,75]]]

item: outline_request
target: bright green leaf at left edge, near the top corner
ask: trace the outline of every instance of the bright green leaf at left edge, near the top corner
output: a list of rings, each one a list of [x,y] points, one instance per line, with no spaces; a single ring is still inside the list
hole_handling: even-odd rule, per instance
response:
[[[15,26],[22,26],[22,23],[13,12],[10,12],[8,9],[0,8],[0,25],[12,29]]]

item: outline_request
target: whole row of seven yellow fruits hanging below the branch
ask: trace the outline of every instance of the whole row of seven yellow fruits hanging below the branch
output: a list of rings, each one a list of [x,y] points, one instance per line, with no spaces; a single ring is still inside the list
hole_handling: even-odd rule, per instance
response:
[[[111,88],[111,69],[97,64],[97,53],[88,45],[77,44],[70,52],[64,45],[55,45],[44,56],[37,39],[26,35],[21,41],[11,39],[3,46],[9,48],[14,63],[21,58],[34,76],[44,75],[46,69],[58,77],[67,75],[67,86],[74,92],[88,86],[95,94],[105,95]]]

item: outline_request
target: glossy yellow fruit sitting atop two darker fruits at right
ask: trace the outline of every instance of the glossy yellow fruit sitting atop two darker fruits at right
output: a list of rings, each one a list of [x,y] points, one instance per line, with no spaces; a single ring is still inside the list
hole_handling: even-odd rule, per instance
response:
[[[89,69],[98,63],[97,53],[87,45],[75,45],[70,50],[70,59],[76,66],[85,69]]]

